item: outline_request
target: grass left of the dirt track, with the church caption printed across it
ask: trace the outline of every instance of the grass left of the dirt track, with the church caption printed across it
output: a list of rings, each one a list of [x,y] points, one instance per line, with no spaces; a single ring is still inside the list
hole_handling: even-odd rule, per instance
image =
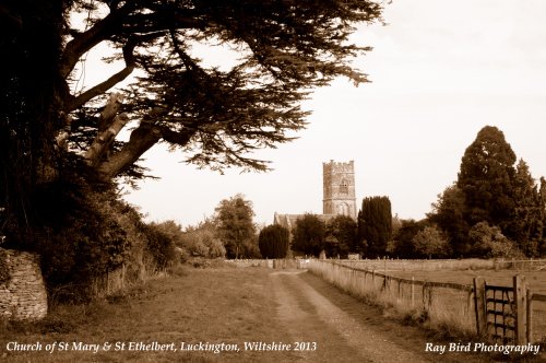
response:
[[[81,306],[54,307],[35,325],[0,327],[3,362],[289,362],[290,352],[187,352],[180,343],[242,344],[244,341],[281,340],[275,305],[269,296],[268,271],[235,267],[181,269],[178,277],[150,281],[128,295]],[[175,297],[173,297],[175,296]],[[161,308],[158,308],[161,307]],[[39,343],[41,351],[8,351],[13,342]],[[73,343],[83,343],[74,351]],[[111,344],[109,350],[104,344]],[[115,351],[126,343],[123,351]],[[177,352],[129,351],[130,342],[174,342]],[[56,343],[56,351],[46,351]],[[68,351],[60,351],[67,343]],[[86,344],[86,346],[84,346]],[[64,346],[63,346],[64,347]],[[136,347],[133,344],[133,348]],[[241,356],[241,354],[245,354]]]

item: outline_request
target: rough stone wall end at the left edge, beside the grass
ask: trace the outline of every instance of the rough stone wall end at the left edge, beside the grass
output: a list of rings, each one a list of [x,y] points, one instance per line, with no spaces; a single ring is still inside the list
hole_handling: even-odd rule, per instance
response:
[[[10,278],[0,283],[0,317],[36,320],[47,315],[47,292],[34,254],[0,248]]]

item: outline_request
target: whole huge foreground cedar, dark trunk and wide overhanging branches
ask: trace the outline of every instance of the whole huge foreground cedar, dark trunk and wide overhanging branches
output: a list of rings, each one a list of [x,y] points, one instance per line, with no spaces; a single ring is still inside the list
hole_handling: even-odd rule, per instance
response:
[[[82,155],[93,182],[142,177],[136,162],[158,142],[199,166],[266,169],[251,152],[305,127],[299,103],[312,87],[367,82],[352,60],[370,48],[349,35],[381,11],[366,0],[2,1],[0,206],[27,221],[25,199],[67,155]],[[121,69],[81,89],[76,66],[105,44]],[[235,55],[232,67],[200,58],[212,46]]]

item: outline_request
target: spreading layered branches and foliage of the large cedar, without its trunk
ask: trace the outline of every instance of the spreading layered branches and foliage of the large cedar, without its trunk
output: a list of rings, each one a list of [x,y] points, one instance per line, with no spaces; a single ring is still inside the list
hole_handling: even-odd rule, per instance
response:
[[[8,2],[1,14],[11,21],[4,26],[14,42],[31,38],[21,45],[22,52],[31,49],[38,56],[36,40],[52,39],[41,45],[48,57],[40,59],[58,67],[49,72],[39,67],[55,80],[50,82],[55,91],[48,92],[55,104],[47,101],[57,118],[49,122],[52,130],[68,127],[72,147],[86,151],[93,143],[90,128],[103,139],[96,143],[111,137],[105,132],[119,132],[109,130],[116,121],[114,129],[128,120],[139,122],[128,142],[116,143],[116,152],[90,156],[88,163],[103,178],[127,172],[159,141],[181,148],[187,161],[198,165],[264,169],[263,161],[246,153],[290,140],[286,132],[305,126],[299,102],[311,87],[337,75],[355,83],[367,81],[349,61],[369,48],[352,44],[348,36],[356,24],[377,21],[381,14],[380,4],[357,0],[58,0],[47,11],[43,5],[39,16],[25,9],[31,3],[38,2]],[[83,28],[69,21],[73,13],[85,15]],[[38,21],[61,25],[36,27],[36,33],[17,38]],[[111,60],[122,60],[124,67],[83,92],[72,91],[76,65],[104,43],[117,50]],[[238,60],[229,69],[210,66],[193,51],[203,44],[230,48]],[[29,66],[16,61],[15,68]],[[138,81],[98,117],[93,102],[102,99],[103,106],[106,94],[135,70]]]

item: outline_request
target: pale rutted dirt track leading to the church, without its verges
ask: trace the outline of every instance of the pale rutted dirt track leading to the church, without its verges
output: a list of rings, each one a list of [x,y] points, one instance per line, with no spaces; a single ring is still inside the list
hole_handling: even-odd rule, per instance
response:
[[[305,271],[270,274],[277,316],[293,341],[317,342],[317,350],[299,352],[312,362],[434,362],[392,341],[392,335],[365,325],[317,292],[301,277]],[[355,304],[358,302],[355,301]]]

